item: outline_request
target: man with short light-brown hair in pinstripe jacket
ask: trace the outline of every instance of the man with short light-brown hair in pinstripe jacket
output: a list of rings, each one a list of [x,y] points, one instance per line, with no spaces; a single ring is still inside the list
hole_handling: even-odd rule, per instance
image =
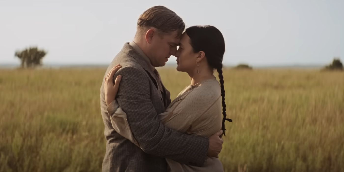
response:
[[[134,40],[125,43],[109,65],[106,74],[116,64],[122,66],[114,77],[122,76],[116,100],[126,112],[126,122],[138,144],[112,127],[109,114],[114,114],[117,107],[105,99],[103,79],[100,98],[107,139],[104,172],[166,171],[164,158],[202,166],[206,156],[217,156],[221,151],[221,131],[209,138],[185,135],[166,128],[157,117],[171,99],[154,67],[164,66],[176,53],[184,28],[183,20],[175,12],[162,6],[152,7],[141,14]]]

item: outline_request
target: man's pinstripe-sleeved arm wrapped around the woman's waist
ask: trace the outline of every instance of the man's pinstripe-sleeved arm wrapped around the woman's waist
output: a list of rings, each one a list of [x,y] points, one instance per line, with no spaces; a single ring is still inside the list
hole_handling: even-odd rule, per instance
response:
[[[202,166],[208,153],[209,139],[185,135],[165,127],[157,117],[150,99],[146,73],[135,67],[123,67],[117,101],[127,114],[133,136],[141,149],[149,154],[181,163]]]

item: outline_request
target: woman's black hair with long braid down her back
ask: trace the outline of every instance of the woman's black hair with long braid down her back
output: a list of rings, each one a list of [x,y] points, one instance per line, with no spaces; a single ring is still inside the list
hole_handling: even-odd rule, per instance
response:
[[[217,69],[221,85],[222,96],[222,130],[225,135],[225,121],[232,122],[232,119],[226,118],[225,89],[222,75],[222,60],[225,53],[225,40],[222,33],[214,26],[191,26],[185,30],[190,37],[190,44],[195,53],[204,51],[209,66]],[[226,136],[226,135],[225,135]]]

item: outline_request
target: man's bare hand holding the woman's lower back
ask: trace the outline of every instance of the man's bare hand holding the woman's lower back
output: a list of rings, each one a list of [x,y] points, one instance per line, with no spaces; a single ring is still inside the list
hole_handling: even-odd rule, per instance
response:
[[[212,136],[209,137],[209,149],[208,149],[208,156],[209,157],[218,157],[218,154],[221,152],[223,140],[220,138],[222,135],[222,130],[216,132]]]

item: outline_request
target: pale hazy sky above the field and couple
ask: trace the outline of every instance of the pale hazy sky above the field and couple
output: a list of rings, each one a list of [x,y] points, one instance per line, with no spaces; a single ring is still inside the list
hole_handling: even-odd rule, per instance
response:
[[[192,25],[224,35],[224,64],[328,64],[344,60],[344,0],[0,0],[0,64],[38,46],[43,64],[109,64],[162,5]],[[171,56],[168,64],[175,64]]]

